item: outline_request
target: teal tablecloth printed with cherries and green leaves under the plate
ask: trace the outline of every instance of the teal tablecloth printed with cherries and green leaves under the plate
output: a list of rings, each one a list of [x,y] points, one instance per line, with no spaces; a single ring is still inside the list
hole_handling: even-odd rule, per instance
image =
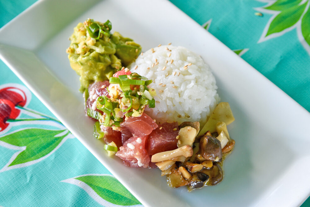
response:
[[[34,2],[0,0],[0,26]],[[171,2],[310,111],[309,0]],[[0,117],[1,206],[139,205],[3,62],[1,99],[19,102]]]

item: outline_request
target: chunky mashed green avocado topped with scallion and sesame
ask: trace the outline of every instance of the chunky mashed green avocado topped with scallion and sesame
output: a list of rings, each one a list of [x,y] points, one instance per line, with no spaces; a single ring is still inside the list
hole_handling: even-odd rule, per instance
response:
[[[66,52],[72,69],[80,75],[81,92],[94,81],[108,80],[141,52],[139,44],[118,32],[110,34],[111,29],[109,20],[101,23],[91,19],[74,27]]]

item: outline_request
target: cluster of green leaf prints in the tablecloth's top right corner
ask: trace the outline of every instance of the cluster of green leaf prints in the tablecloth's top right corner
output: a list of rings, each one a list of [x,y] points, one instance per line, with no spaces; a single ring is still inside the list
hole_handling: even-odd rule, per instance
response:
[[[310,55],[310,0],[257,1],[269,3],[264,7],[255,8],[256,11],[272,14],[258,43],[280,37],[296,28],[300,43]],[[291,43],[293,44],[294,41]]]

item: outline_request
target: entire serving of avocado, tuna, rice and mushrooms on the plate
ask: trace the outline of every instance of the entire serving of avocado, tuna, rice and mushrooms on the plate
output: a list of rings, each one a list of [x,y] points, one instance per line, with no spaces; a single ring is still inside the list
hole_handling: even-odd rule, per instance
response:
[[[234,117],[219,102],[208,65],[171,43],[141,52],[111,29],[109,20],[87,19],[66,51],[103,150],[129,167],[158,168],[170,187],[221,182],[235,145],[227,129]]]

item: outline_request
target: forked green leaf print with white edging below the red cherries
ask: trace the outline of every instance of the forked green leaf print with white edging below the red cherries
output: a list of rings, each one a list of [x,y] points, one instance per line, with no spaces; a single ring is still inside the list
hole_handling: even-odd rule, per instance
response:
[[[0,145],[20,150],[15,153],[8,164],[0,170],[24,167],[49,156],[68,138],[70,132],[64,130],[48,130],[40,128],[22,129],[0,137]],[[1,142],[9,144],[6,146]],[[20,166],[22,165],[22,166]]]

